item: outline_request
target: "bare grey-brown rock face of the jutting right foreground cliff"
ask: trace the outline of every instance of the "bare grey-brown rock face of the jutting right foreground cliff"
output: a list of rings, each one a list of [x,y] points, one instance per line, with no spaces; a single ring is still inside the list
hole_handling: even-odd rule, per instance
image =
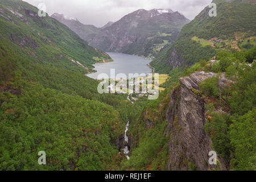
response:
[[[165,132],[165,135],[171,133],[166,167],[168,170],[188,170],[189,163],[196,165],[199,170],[216,168],[208,163],[208,154],[214,149],[209,134],[204,131],[207,122],[206,102],[200,94],[196,94],[196,90],[200,90],[199,82],[214,75],[216,73],[196,72],[180,78],[180,88],[170,93],[166,113],[168,126]],[[227,82],[224,75],[220,80]],[[222,159],[218,158],[218,161],[225,170]]]

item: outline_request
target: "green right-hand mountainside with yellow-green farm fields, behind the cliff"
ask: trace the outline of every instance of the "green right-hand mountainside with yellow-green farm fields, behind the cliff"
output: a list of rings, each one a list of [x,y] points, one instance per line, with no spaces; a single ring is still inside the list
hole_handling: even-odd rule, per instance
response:
[[[150,63],[156,72],[168,73],[172,68],[208,61],[220,50],[239,51],[256,44],[256,4],[253,1],[216,0],[217,16],[208,15],[205,7],[186,24],[177,41]]]

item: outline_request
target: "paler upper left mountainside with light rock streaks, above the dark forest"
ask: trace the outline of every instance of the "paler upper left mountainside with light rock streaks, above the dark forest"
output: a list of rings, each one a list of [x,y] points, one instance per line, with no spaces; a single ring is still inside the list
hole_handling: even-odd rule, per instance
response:
[[[110,57],[80,39],[64,24],[22,1],[0,2],[1,44],[22,51],[34,63],[88,73],[98,60]]]

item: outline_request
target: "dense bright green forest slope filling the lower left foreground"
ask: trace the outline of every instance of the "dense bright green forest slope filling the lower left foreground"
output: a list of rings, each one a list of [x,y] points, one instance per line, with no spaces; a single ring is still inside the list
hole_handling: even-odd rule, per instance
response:
[[[123,127],[113,107],[29,82],[0,98],[1,170],[104,170],[118,160],[110,140]]]

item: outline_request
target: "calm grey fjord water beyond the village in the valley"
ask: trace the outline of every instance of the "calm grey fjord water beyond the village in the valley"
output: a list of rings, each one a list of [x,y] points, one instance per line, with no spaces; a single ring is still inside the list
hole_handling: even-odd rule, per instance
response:
[[[151,69],[147,66],[151,60],[139,56],[127,55],[125,53],[107,53],[114,61],[110,63],[94,64],[94,69],[97,72],[86,76],[97,79],[100,73],[106,73],[110,77],[110,69],[115,69],[115,76],[118,73],[125,73],[127,77],[129,76],[129,73],[151,73]]]

